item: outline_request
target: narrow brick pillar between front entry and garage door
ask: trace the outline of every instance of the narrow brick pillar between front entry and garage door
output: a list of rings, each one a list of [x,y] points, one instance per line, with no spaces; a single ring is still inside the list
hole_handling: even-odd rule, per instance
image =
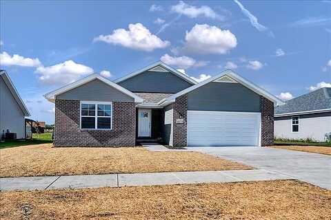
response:
[[[179,96],[174,102],[173,146],[188,146],[188,95]],[[177,119],[183,119],[183,124],[177,124]]]

